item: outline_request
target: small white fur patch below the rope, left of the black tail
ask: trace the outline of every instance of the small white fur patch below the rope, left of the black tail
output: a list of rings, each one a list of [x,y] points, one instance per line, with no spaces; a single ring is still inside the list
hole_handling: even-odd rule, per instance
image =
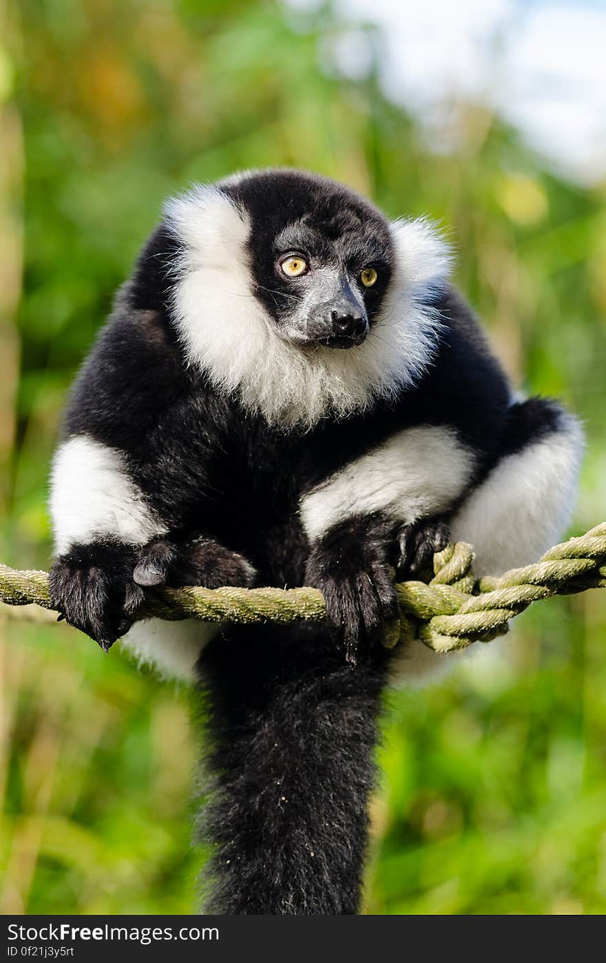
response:
[[[120,645],[139,662],[153,665],[161,675],[194,682],[199,654],[219,629],[218,622],[202,622],[196,618],[175,622],[147,618],[135,622],[120,639]]]

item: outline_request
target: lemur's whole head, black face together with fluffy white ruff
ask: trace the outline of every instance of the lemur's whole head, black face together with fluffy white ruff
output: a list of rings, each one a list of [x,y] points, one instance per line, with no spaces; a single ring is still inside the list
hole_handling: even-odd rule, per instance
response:
[[[428,221],[389,222],[328,178],[269,169],[174,198],[164,230],[189,363],[272,424],[344,418],[431,363],[448,253]]]

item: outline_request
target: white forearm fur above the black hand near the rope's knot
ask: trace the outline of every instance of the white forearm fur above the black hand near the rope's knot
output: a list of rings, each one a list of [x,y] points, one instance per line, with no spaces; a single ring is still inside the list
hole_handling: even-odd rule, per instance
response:
[[[346,518],[372,511],[402,522],[444,511],[464,490],[473,461],[450,429],[400,431],[305,495],[305,532],[319,538]]]

